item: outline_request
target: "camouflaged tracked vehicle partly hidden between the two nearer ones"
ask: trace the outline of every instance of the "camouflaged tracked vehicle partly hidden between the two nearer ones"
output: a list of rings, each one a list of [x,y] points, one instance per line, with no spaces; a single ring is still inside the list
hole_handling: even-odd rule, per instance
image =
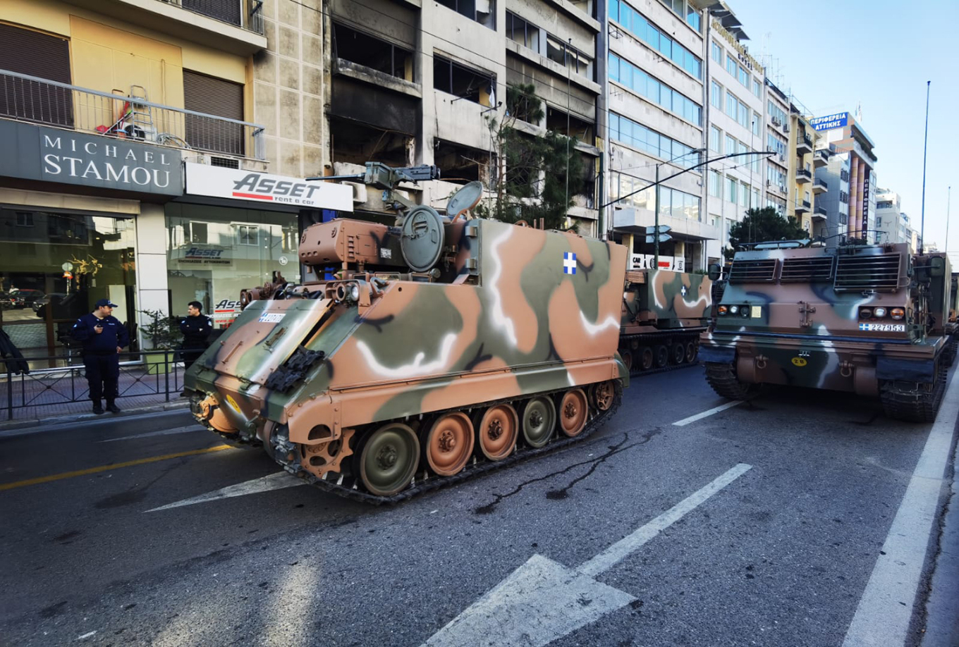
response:
[[[713,307],[713,282],[667,269],[628,270],[622,290],[620,357],[632,375],[690,365]]]

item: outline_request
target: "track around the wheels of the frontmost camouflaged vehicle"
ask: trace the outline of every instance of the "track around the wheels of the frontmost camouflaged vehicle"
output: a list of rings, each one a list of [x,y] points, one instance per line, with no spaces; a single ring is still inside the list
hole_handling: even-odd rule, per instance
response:
[[[530,394],[529,396],[524,396],[523,398],[507,398],[504,400],[497,400],[488,403],[476,404],[474,408],[492,406],[495,404],[503,403],[514,403],[529,398],[548,395],[551,396],[555,393],[560,393],[561,391],[553,391],[550,393],[539,393],[539,394]],[[462,469],[457,474],[452,476],[436,476],[435,474],[427,474],[424,470],[419,470],[413,477],[410,486],[403,492],[397,493],[392,497],[380,497],[377,495],[371,495],[368,492],[363,492],[359,486],[359,479],[354,476],[348,476],[344,474],[328,474],[328,479],[317,478],[315,474],[311,474],[307,470],[304,470],[303,467],[298,463],[287,463],[283,458],[289,452],[296,452],[295,445],[289,441],[289,439],[283,435],[283,431],[280,431],[278,434],[274,434],[270,439],[271,445],[273,446],[271,453],[283,467],[284,470],[299,476],[305,480],[310,485],[313,485],[320,490],[338,495],[339,497],[349,498],[354,501],[362,501],[363,503],[369,503],[372,505],[383,505],[384,503],[399,503],[411,497],[416,497],[426,492],[431,492],[433,490],[438,490],[439,488],[446,487],[448,485],[453,485],[460,481],[466,480],[468,478],[473,478],[474,476],[479,476],[480,474],[487,474],[493,472],[494,470],[499,470],[506,467],[507,465],[512,465],[527,458],[532,458],[543,453],[550,451],[556,451],[570,445],[573,443],[580,442],[585,438],[589,437],[598,427],[602,425],[605,421],[609,420],[616,413],[617,409],[620,408],[622,403],[622,384],[620,381],[616,381],[615,395],[613,398],[613,404],[606,411],[596,412],[593,409],[594,413],[592,414],[589,422],[586,424],[586,427],[574,438],[565,438],[565,437],[554,437],[548,445],[540,449],[532,449],[528,447],[521,447],[521,444],[517,444],[516,451],[513,451],[508,457],[503,458],[503,460],[491,462],[491,461],[479,461],[476,458],[473,458],[466,467]],[[434,414],[444,414],[454,411],[461,411],[462,408],[451,408],[444,411],[434,411],[431,412],[431,415]],[[386,421],[384,421],[386,422]],[[521,435],[522,440],[522,435]]]

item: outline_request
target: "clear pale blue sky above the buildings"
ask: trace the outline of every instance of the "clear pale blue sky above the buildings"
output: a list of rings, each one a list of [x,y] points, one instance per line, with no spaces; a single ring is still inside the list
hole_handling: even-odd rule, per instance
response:
[[[859,125],[876,145],[877,185],[901,196],[920,227],[925,90],[929,134],[925,241],[959,262],[959,19],[956,0],[727,0],[766,76],[813,117],[862,106]],[[912,10],[917,11],[913,12]],[[767,54],[769,58],[762,58]]]

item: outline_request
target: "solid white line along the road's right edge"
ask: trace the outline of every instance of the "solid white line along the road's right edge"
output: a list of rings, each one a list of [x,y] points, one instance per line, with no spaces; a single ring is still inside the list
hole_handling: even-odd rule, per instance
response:
[[[859,599],[843,647],[905,644],[957,417],[959,380],[953,377],[882,544],[884,554],[876,560]]]

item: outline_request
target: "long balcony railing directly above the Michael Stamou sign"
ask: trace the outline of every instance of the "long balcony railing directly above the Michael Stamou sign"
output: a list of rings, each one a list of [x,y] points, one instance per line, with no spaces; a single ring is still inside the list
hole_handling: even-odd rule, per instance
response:
[[[266,159],[262,126],[0,70],[0,119]]]

